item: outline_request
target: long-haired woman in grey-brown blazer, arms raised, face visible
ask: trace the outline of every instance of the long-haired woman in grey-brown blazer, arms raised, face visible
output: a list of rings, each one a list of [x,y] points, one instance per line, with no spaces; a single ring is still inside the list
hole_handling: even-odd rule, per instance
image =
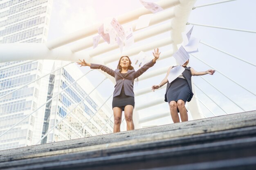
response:
[[[150,62],[143,65],[139,70],[135,71],[131,66],[132,62],[128,56],[122,56],[119,59],[117,69],[112,70],[104,65],[86,63],[84,60],[77,62],[81,66],[90,66],[92,69],[101,69],[102,71],[108,73],[110,76],[115,77],[116,84],[113,94],[112,109],[114,113],[114,130],[113,132],[120,132],[122,111],[124,111],[124,116],[127,123],[127,130],[133,130],[134,124],[132,120],[132,113],[134,109],[134,92],[133,92],[133,81],[135,78],[139,77],[141,74],[146,72],[150,67],[152,67],[157,59],[159,58],[159,49],[154,50],[153,56],[155,57]]]

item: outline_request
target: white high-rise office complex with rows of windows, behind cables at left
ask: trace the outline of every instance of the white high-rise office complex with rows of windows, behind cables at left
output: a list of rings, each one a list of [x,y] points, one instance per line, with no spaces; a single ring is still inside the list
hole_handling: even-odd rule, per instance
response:
[[[52,0],[1,0],[0,43],[45,43],[51,8]],[[66,62],[43,60],[0,63],[0,97],[64,64]],[[45,133],[60,122],[63,116],[66,116],[90,89],[93,89],[89,81],[84,77],[80,81],[86,82],[86,85],[74,83],[52,101],[43,104],[79,78],[79,75],[82,75],[79,68],[70,64],[0,98],[0,134],[35,111],[0,137],[0,150],[36,144]],[[102,127],[104,129],[101,133],[110,133],[113,121],[108,120],[112,111],[108,105],[99,109],[103,102],[97,91],[92,93],[40,143],[96,135]],[[43,107],[40,107],[41,105]],[[40,109],[36,111],[39,107]],[[99,111],[90,119],[98,109]],[[107,121],[108,124],[104,126]]]

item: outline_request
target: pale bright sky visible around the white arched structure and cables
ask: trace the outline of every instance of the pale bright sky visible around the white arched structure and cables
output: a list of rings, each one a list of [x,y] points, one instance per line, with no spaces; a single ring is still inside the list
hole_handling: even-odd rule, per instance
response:
[[[198,0],[195,3],[195,6],[218,1],[220,0]],[[147,2],[157,2],[157,0],[148,0]],[[94,23],[101,23],[107,17],[116,17],[141,7],[143,6],[139,0],[54,0],[48,41],[79,31]],[[255,0],[235,0],[222,4],[200,7],[191,11],[188,22],[256,31],[256,23],[254,22],[256,11],[254,7],[256,7]],[[170,22],[170,20],[166,22]],[[161,26],[161,24],[157,24],[155,26]],[[143,41],[139,41],[136,43],[136,46],[164,39],[166,36],[170,37],[170,33],[162,33]],[[192,36],[201,39],[202,42],[215,46],[225,52],[229,52],[251,63],[256,63],[256,55],[254,52],[256,43],[255,33],[194,26]],[[100,45],[101,44],[99,44],[99,46]],[[68,46],[69,45],[67,45],[67,47]],[[160,51],[166,51],[170,48],[172,48],[171,45],[164,46],[160,48]],[[92,50],[92,48],[85,49],[83,52],[88,52],[90,50]],[[209,48],[203,44],[199,45],[198,50],[199,52],[193,54],[208,63],[211,67],[205,65],[198,59],[195,59],[193,56],[190,58],[190,66],[197,71],[204,71],[209,68],[216,69],[217,72],[215,75],[205,75],[202,78],[209,81],[214,87],[218,88],[223,94],[236,102],[245,111],[256,110],[256,96],[247,92],[245,89],[239,87],[220,74],[221,72],[227,75],[246,89],[256,93],[256,77],[254,75],[256,73],[255,66],[244,63],[243,61],[230,57],[222,52],[218,52],[217,50]],[[118,52],[119,49],[113,50],[97,58],[103,59],[108,55],[116,54]],[[146,54],[152,57],[152,51],[148,51]],[[155,66],[150,68],[150,70],[152,71],[173,64],[175,64],[173,57],[169,57],[168,59],[157,61]],[[111,65],[115,68],[117,62],[113,62]],[[90,68],[83,67],[81,70],[83,72],[87,72]],[[104,76],[99,74],[99,72],[94,72],[90,73],[87,77],[90,79],[92,84],[96,86]],[[97,78],[95,78],[96,76]],[[134,90],[136,91],[137,89],[143,89],[154,84],[159,84],[164,76],[165,74],[162,74],[148,80],[139,81],[139,83],[135,85]],[[225,115],[225,111],[228,114],[243,111],[202,78],[200,76],[194,76],[193,82],[200,87],[203,92],[197,87],[193,90],[196,92],[200,101],[213,111],[216,116]],[[103,98],[108,98],[108,96],[112,94],[113,90],[114,87],[110,81],[104,82],[98,88],[98,91],[102,94]],[[164,100],[164,93],[165,89],[161,89],[154,93],[152,92],[144,96],[135,97],[135,108],[136,105],[146,102],[145,98],[153,100],[153,98],[162,97]],[[110,107],[111,102],[112,100],[108,101],[108,105],[110,105]],[[224,111],[215,103],[217,103]],[[200,108],[206,117],[214,116],[201,103]],[[139,111],[139,116],[140,118],[144,118],[164,111],[168,111],[167,103],[141,110]],[[189,120],[191,120],[190,115]],[[166,117],[147,122],[144,126],[168,124],[171,122],[171,117]]]

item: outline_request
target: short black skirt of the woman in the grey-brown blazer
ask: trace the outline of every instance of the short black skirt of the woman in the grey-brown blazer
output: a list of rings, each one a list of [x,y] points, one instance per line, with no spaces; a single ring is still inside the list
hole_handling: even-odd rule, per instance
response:
[[[134,108],[135,101],[134,101],[134,97],[125,95],[124,86],[123,86],[121,89],[121,93],[118,96],[113,97],[112,109],[114,107],[121,107],[124,111],[124,107],[126,105],[132,105]]]

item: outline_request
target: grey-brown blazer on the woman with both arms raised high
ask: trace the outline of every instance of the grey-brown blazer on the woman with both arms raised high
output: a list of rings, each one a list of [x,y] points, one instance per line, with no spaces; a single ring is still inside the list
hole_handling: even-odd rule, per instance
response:
[[[101,69],[102,71],[108,73],[110,76],[115,77],[116,79],[116,85],[113,97],[118,96],[121,93],[121,89],[124,85],[124,92],[126,96],[132,96],[134,97],[133,92],[133,81],[135,78],[139,77],[141,74],[146,72],[150,67],[152,67],[155,64],[153,60],[143,65],[139,70],[128,70],[125,76],[122,76],[120,73],[120,70],[116,69],[115,71],[100,64],[91,64],[92,69]]]

